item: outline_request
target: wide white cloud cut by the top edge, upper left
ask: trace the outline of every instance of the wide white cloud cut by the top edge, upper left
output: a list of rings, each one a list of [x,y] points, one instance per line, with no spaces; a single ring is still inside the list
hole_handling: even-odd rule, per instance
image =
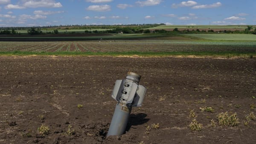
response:
[[[55,3],[55,0],[29,0],[26,1],[23,6],[27,8],[38,8],[38,7],[47,7],[47,8],[61,8],[61,3]]]

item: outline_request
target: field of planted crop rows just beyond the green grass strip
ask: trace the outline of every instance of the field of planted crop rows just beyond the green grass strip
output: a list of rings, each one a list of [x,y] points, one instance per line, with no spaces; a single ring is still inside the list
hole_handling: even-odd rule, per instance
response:
[[[256,52],[256,42],[200,41],[65,41],[0,42],[1,52]]]

